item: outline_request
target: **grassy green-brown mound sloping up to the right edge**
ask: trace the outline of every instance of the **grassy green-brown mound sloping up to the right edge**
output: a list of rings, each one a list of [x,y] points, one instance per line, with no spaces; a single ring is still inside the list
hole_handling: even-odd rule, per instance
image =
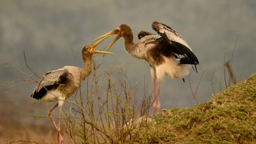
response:
[[[256,74],[196,107],[164,110],[139,143],[256,143]]]

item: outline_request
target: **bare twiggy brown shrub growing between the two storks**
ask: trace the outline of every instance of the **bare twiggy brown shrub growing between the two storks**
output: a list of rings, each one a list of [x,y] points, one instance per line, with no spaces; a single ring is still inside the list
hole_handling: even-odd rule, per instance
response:
[[[85,88],[79,88],[74,101],[68,101],[71,107],[63,119],[66,134],[74,143],[134,141],[137,128],[149,119],[151,97],[145,92],[138,96],[137,88],[126,81],[112,81],[110,76],[115,71],[105,71],[106,77],[98,75],[100,65],[93,65],[93,77],[87,79]]]

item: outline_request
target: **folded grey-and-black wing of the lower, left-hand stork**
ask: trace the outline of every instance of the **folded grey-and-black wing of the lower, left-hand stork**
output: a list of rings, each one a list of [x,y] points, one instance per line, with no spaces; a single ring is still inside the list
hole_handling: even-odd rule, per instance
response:
[[[31,96],[35,99],[43,98],[48,90],[57,88],[59,84],[64,84],[68,74],[69,71],[63,68],[45,73],[42,80],[35,86]]]

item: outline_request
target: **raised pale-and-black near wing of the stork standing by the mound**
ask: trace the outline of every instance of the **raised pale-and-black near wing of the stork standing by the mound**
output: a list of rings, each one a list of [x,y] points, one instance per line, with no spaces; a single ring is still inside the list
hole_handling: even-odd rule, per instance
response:
[[[161,35],[161,37],[163,37],[165,41],[172,45],[172,47],[175,48],[175,51],[179,52],[185,57],[194,60],[195,63],[199,63],[198,58],[196,58],[195,54],[192,52],[192,49],[190,48],[190,46],[188,46],[188,43],[186,43],[181,35],[171,29],[171,27],[166,26],[161,22],[153,22],[152,28],[159,35]]]

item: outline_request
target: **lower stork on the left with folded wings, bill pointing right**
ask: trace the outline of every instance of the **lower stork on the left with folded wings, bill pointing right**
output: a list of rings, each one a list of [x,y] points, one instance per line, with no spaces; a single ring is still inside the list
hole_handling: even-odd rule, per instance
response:
[[[82,49],[83,68],[74,66],[64,66],[61,69],[49,71],[43,75],[41,81],[35,86],[32,92],[32,98],[42,99],[43,101],[58,101],[51,109],[48,110],[49,118],[53,122],[54,127],[58,132],[58,142],[63,143],[64,139],[60,134],[60,118],[62,113],[62,105],[79,88],[81,82],[91,73],[91,62],[93,54],[113,54],[95,50],[95,46],[100,41],[93,43],[90,46],[84,46]],[[53,120],[52,111],[59,107],[58,125]]]

